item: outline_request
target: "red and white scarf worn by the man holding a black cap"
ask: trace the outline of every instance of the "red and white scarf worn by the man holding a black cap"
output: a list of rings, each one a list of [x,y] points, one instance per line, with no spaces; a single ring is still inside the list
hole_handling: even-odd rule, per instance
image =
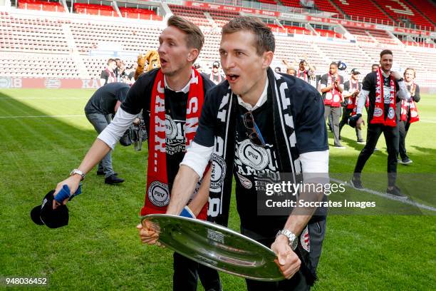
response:
[[[188,93],[185,139],[190,146],[197,131],[199,116],[204,100],[203,79],[192,68],[190,92]],[[162,71],[157,71],[153,83],[150,103],[150,135],[148,139],[147,190],[141,215],[165,213],[170,203],[170,189],[167,176],[167,152],[165,149],[165,86]],[[198,218],[206,217],[207,205],[204,205]]]

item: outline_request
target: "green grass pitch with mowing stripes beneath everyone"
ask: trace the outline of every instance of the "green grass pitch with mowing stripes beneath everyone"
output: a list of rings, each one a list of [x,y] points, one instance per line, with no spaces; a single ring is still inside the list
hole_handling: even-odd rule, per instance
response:
[[[68,203],[68,227],[51,230],[31,222],[31,208],[81,162],[95,139],[83,113],[92,93],[0,91],[0,288],[5,277],[46,277],[50,290],[172,289],[172,252],[140,244],[135,228],[145,193],[146,146],[139,152],[115,148],[113,165],[126,179],[123,185],[105,185],[95,169],[88,174],[84,193]],[[398,173],[434,174],[436,96],[423,94],[417,106],[422,121],[412,124],[406,140],[414,163],[398,165]],[[330,170],[351,173],[363,146],[348,126],[342,136],[347,148],[331,148]],[[378,148],[365,171],[383,175],[383,137]],[[229,227],[239,230],[234,199],[230,214]],[[435,290],[436,219],[425,214],[328,216],[313,290]],[[224,290],[245,290],[242,278],[221,274]]]

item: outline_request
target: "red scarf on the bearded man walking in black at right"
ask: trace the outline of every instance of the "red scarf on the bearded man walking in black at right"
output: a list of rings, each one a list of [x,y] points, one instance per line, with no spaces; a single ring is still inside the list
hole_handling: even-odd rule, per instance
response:
[[[383,124],[384,126],[397,126],[397,118],[395,116],[395,82],[393,76],[390,76],[390,98],[389,98],[389,111],[388,116],[385,117],[385,101],[384,101],[384,88],[383,88],[383,77],[381,68],[377,71],[377,84],[375,85],[375,106],[373,119],[371,119],[371,124]]]

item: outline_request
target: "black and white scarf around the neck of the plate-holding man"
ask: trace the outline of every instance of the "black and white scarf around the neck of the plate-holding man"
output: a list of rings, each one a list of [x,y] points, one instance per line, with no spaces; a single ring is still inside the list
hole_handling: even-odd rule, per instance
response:
[[[296,135],[292,104],[288,83],[279,73],[268,68],[267,78],[272,91],[272,115],[274,119],[274,146],[281,171],[292,173],[294,181],[301,179],[301,164],[296,148]],[[230,197],[232,193],[232,174],[234,165],[235,131],[237,121],[237,96],[229,87],[224,94],[217,113],[214,152],[212,153],[212,176],[209,188],[208,220],[227,225]],[[316,275],[306,265],[308,252],[299,247],[304,273],[308,282],[313,283]]]

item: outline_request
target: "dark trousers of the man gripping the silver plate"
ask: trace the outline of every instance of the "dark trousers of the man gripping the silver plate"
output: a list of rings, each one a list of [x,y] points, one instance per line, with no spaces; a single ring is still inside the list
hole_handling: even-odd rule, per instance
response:
[[[277,230],[279,231],[279,230]],[[241,227],[241,233],[243,235],[260,242],[266,247],[271,247],[276,237],[265,237],[259,233],[255,233],[252,230],[247,230]],[[326,220],[321,220],[316,223],[308,224],[309,233],[309,260],[311,267],[315,268],[318,266],[319,257],[321,257],[321,248],[323,245],[324,236],[326,235]],[[300,238],[299,238],[300,239]],[[306,291],[311,290],[311,286],[306,282],[306,277],[304,277],[301,268],[299,272],[296,272],[293,277],[289,280],[283,280],[278,282],[263,282],[256,280],[246,279],[246,289],[248,291]]]

